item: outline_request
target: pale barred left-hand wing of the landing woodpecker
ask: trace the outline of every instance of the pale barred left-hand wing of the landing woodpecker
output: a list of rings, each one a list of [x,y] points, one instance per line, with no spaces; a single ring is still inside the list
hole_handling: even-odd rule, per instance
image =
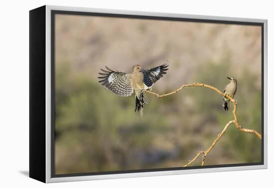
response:
[[[106,66],[106,70],[103,70],[103,73],[99,73],[102,77],[99,83],[102,83],[102,86],[106,87],[110,91],[120,96],[130,96],[133,94],[134,90],[131,83],[131,74],[122,73],[119,71],[113,71]]]

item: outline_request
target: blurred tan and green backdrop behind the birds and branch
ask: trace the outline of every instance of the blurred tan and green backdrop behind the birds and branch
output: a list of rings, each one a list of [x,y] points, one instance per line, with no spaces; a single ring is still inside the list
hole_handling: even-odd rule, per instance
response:
[[[206,88],[145,94],[141,118],[134,95],[98,83],[105,65],[131,72],[168,60],[152,88],[159,94],[194,82],[223,91],[235,77],[239,122],[261,132],[261,27],[57,14],[55,28],[56,174],[182,167],[233,119]],[[205,165],[252,162],[261,162],[261,141],[232,125]]]

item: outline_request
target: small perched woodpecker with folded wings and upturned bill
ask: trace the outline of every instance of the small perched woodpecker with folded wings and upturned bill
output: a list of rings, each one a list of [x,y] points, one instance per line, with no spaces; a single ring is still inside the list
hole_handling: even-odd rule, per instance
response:
[[[233,98],[237,92],[237,80],[233,77],[231,77],[231,78],[227,77],[227,78],[230,80],[230,83],[225,87],[224,93]],[[230,103],[231,103],[230,99],[228,99],[227,97],[224,96],[223,106],[224,106],[225,110],[229,110]]]

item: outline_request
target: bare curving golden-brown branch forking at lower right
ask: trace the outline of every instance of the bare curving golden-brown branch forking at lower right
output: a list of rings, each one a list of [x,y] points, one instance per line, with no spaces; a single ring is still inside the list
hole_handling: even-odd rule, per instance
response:
[[[222,138],[223,134],[226,132],[226,130],[228,129],[229,125],[231,124],[234,124],[236,126],[236,128],[241,131],[241,132],[246,132],[246,133],[252,133],[252,134],[255,134],[259,139],[262,139],[262,135],[256,131],[256,130],[252,130],[252,129],[246,129],[246,128],[243,128],[240,126],[240,124],[238,123],[238,117],[237,117],[237,114],[236,114],[236,110],[237,110],[237,101],[235,99],[233,99],[230,95],[228,94],[225,94],[225,93],[222,93],[220,90],[218,90],[217,88],[213,87],[213,86],[210,86],[210,85],[207,85],[207,84],[200,84],[200,83],[193,83],[193,84],[186,84],[186,85],[182,85],[180,88],[178,88],[177,90],[173,91],[173,92],[170,92],[168,94],[162,94],[162,95],[159,95],[157,93],[154,93],[154,92],[150,92],[150,91],[145,91],[146,93],[149,93],[149,94],[154,94],[156,95],[158,98],[161,98],[161,97],[164,97],[164,96],[168,96],[168,95],[171,95],[171,94],[176,94],[177,92],[181,91],[183,88],[189,88],[189,87],[205,87],[205,88],[209,88],[215,92],[217,92],[218,94],[220,95],[223,95],[224,97],[228,98],[233,104],[234,104],[234,109],[232,111],[233,113],[233,117],[234,119],[229,121],[224,129],[222,130],[221,133],[218,134],[218,136],[215,138],[215,140],[212,142],[212,144],[209,146],[209,148],[206,150],[206,151],[199,151],[196,156],[191,159],[187,164],[185,164],[183,167],[187,167],[189,165],[191,165],[194,161],[196,161],[200,155],[203,154],[203,157],[202,157],[202,163],[201,163],[201,166],[204,165],[205,163],[205,159],[207,157],[207,155],[209,154],[209,152],[212,150],[212,148],[216,145],[216,143]]]

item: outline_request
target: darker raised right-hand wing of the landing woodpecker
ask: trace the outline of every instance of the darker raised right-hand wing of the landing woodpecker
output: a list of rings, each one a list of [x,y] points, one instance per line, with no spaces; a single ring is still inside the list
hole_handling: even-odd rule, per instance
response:
[[[168,65],[165,63],[161,66],[154,67],[148,70],[141,70],[143,73],[143,83],[144,83],[144,89],[147,90],[152,87],[153,84],[155,84],[160,78],[163,77],[164,74],[166,74],[165,71],[167,71]]]

